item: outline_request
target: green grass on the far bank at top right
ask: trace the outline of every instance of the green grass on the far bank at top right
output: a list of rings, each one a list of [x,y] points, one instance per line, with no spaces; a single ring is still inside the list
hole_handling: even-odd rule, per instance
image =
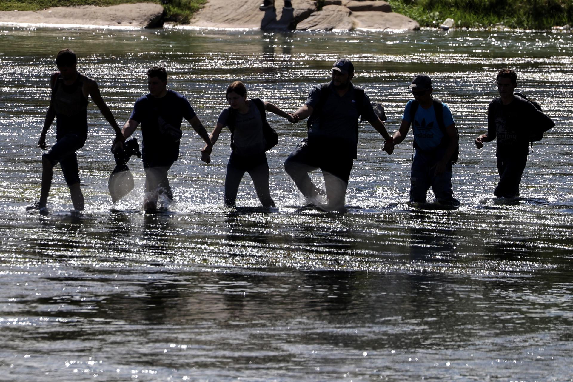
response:
[[[439,26],[446,18],[458,27],[551,29],[573,24],[573,0],[386,0],[393,11],[421,26]]]

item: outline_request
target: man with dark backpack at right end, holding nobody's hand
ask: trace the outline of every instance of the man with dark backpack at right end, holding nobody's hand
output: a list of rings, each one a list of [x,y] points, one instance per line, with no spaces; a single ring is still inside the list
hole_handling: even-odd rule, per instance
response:
[[[523,97],[513,94],[517,87],[517,74],[511,69],[502,69],[497,74],[497,90],[500,97],[489,103],[488,132],[476,138],[477,148],[497,136],[497,171],[500,182],[493,194],[497,198],[519,196],[521,175],[527,163],[529,141],[535,131],[547,131],[555,126],[541,108]],[[535,139],[539,140],[539,139]]]

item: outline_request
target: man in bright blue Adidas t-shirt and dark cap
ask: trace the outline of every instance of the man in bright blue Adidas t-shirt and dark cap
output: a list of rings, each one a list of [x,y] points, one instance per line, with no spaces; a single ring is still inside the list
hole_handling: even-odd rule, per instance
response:
[[[410,125],[413,126],[416,153],[410,178],[410,202],[425,203],[431,187],[438,203],[457,206],[460,202],[453,197],[452,160],[458,148],[458,133],[452,113],[448,106],[432,97],[431,78],[427,74],[416,74],[408,88],[412,89],[414,99],[406,104],[402,124],[393,140],[394,144],[403,141]],[[442,121],[438,121],[436,115],[441,115]]]

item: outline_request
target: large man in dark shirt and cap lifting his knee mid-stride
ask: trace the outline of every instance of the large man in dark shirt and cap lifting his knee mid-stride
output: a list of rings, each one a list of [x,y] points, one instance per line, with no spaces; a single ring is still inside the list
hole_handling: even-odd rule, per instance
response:
[[[318,203],[322,192],[308,173],[320,168],[327,210],[343,210],[346,188],[358,147],[358,120],[367,120],[386,139],[383,150],[391,154],[394,143],[362,88],[352,84],[354,65],[340,58],[331,69],[332,81],[311,89],[307,101],[295,112],[295,120],[308,118],[308,136],[286,159],[286,172],[307,201]]]

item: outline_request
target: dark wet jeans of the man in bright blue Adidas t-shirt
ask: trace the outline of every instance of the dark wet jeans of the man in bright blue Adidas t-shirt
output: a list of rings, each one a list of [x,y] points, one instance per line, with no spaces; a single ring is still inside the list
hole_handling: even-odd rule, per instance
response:
[[[433,167],[444,156],[444,149],[424,152],[416,149],[410,178],[410,202],[425,203],[427,191],[432,189],[439,203],[459,204],[452,191],[452,163],[441,175],[434,175]]]

